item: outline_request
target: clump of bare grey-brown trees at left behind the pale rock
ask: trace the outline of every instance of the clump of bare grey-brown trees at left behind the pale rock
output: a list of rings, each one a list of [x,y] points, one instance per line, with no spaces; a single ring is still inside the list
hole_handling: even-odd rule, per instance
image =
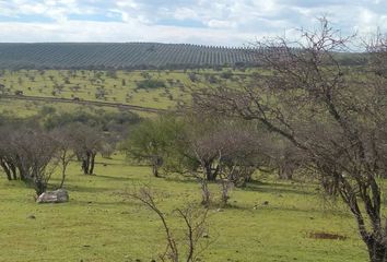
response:
[[[35,189],[36,194],[45,192],[51,175],[60,167],[61,188],[71,160],[81,163],[85,175],[94,171],[95,156],[105,146],[103,133],[97,129],[74,123],[45,131],[39,128],[0,128],[0,165],[9,180],[22,180]]]

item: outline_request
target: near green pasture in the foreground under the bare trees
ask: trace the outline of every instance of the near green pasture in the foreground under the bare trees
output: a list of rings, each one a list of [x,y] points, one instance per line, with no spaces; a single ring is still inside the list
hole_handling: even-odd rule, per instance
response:
[[[150,168],[131,166],[119,155],[98,163],[96,176],[84,176],[78,163],[71,165],[66,183],[70,202],[64,204],[36,204],[32,189],[1,179],[0,261],[156,259],[164,249],[161,223],[125,192],[151,184],[163,193],[160,206],[179,231],[183,224],[172,212],[199,203],[199,186],[187,178],[153,178]],[[216,203],[218,184],[211,190]],[[232,192],[231,204],[211,206],[209,236],[214,242],[201,261],[366,261],[352,216],[340,204],[322,201],[316,186],[258,176]],[[313,233],[347,239],[314,239]]]

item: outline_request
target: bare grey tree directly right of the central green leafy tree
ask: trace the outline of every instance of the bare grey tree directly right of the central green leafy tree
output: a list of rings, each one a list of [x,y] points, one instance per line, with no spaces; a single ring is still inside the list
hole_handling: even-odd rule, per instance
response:
[[[225,205],[230,189],[243,184],[261,164],[261,138],[254,131],[255,127],[248,127],[243,121],[195,118],[186,121],[183,141],[175,146],[178,154],[172,157],[177,159],[179,167],[183,166],[180,172],[198,180],[203,205],[210,204],[210,181],[221,186],[222,203]],[[168,159],[166,162],[168,164]]]

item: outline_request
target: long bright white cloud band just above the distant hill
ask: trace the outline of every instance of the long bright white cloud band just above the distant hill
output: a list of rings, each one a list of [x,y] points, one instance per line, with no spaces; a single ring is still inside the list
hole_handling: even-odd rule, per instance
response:
[[[122,22],[67,21],[60,24],[2,23],[5,41],[161,41],[241,46],[254,35],[211,28],[128,24]],[[17,35],[13,34],[17,31]]]

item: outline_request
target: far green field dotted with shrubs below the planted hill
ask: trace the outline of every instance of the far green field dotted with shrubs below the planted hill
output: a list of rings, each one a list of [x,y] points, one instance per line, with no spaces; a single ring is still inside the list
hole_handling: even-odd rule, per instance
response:
[[[175,71],[87,71],[87,70],[19,70],[1,72],[0,84],[4,94],[23,92],[25,96],[74,97],[84,100],[109,102],[124,105],[134,105],[156,109],[174,108],[179,102],[189,97],[188,87],[208,85],[234,85],[251,80],[251,73],[256,70],[248,69],[246,72],[234,71],[230,79],[224,79],[222,73],[227,72],[213,70],[175,70]],[[196,74],[196,81],[189,79],[189,74]],[[165,84],[159,88],[137,88],[138,83],[152,79]],[[211,80],[212,79],[212,80]],[[212,81],[212,82],[211,82]],[[215,82],[215,83],[214,83]],[[101,96],[103,94],[103,96]],[[12,110],[8,100],[0,103],[0,112]],[[12,100],[13,104],[13,100]],[[17,115],[27,116],[36,112],[42,104],[16,102]],[[71,106],[59,106],[63,107]]]

